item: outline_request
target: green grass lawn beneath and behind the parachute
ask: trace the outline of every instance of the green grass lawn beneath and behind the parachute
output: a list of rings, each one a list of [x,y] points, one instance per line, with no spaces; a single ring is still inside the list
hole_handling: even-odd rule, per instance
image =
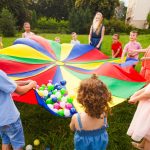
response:
[[[3,38],[4,47],[12,45],[14,38]],[[59,36],[61,43],[69,43],[71,35],[60,34],[41,34],[47,39],[54,39]],[[81,43],[88,42],[87,35],[78,36]],[[128,42],[128,35],[121,35],[120,40],[123,43]],[[150,44],[150,35],[140,35],[138,41],[145,48]],[[102,52],[111,55],[110,50],[111,36],[106,35],[103,42]],[[140,70],[140,63],[136,68]],[[45,150],[50,146],[51,150],[73,150],[73,133],[69,129],[69,119],[62,119],[49,114],[40,106],[16,103],[23,122],[26,144],[32,144],[34,139],[38,138],[41,144],[34,147],[35,150]],[[108,150],[134,150],[130,144],[131,139],[126,135],[130,121],[133,117],[135,105],[127,102],[119,104],[112,109],[112,114],[108,116]]]

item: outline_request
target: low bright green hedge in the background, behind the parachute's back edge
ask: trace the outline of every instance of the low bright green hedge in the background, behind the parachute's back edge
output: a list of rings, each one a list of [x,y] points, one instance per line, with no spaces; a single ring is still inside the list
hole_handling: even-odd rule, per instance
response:
[[[68,33],[68,21],[57,21],[53,18],[42,17],[37,21],[37,28],[51,33]]]

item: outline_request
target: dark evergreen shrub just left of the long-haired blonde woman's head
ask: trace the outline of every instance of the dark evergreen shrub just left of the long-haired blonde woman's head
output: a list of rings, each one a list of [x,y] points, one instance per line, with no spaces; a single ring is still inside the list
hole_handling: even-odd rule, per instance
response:
[[[73,9],[69,15],[70,30],[80,34],[87,34],[91,25],[90,9]]]

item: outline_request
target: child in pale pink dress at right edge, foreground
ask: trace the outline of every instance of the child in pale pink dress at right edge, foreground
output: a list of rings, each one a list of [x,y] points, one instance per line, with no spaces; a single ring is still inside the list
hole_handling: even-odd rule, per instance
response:
[[[132,145],[138,149],[150,150],[150,84],[137,91],[131,96],[129,103],[135,104],[139,101],[138,107],[127,131],[127,134],[135,141]]]

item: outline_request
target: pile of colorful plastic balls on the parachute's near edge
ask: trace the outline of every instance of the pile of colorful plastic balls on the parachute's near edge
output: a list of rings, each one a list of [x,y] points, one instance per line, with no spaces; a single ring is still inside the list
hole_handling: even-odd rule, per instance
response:
[[[55,84],[49,80],[47,85],[37,86],[36,92],[54,115],[71,117],[76,110],[73,106],[73,97],[68,95],[65,85],[65,80]]]

